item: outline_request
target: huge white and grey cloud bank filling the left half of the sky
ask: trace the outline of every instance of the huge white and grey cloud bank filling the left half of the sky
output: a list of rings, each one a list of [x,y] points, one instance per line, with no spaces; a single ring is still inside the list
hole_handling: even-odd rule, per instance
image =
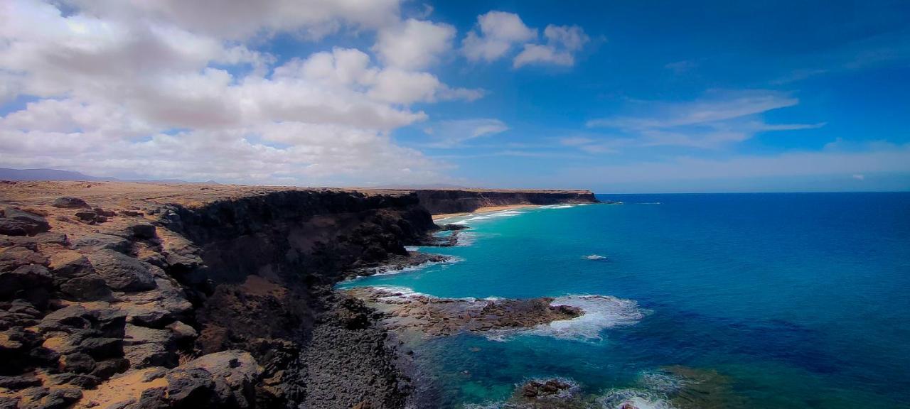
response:
[[[450,27],[401,21],[397,1],[207,3],[0,5],[0,104],[35,99],[0,117],[0,163],[243,183],[440,179],[444,164],[390,132],[427,119],[411,104],[481,90],[442,84],[419,70],[432,57],[415,60],[382,35],[383,65],[346,48],[276,65],[245,40],[332,26],[407,38],[417,27],[435,33],[423,46],[438,55]]]

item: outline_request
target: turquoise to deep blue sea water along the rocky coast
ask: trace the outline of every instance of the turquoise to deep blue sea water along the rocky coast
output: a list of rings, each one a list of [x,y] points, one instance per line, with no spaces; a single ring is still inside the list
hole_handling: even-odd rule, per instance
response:
[[[716,375],[718,407],[910,407],[910,194],[599,197],[624,204],[467,217],[470,245],[421,249],[460,262],[342,286],[605,294],[644,314],[603,325],[598,339],[423,344],[420,365],[445,406],[495,404],[532,377],[645,394],[643,374],[682,365]]]

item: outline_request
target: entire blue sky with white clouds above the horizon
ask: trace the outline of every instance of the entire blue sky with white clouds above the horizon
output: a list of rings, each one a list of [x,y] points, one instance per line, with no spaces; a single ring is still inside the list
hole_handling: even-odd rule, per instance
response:
[[[905,1],[0,2],[0,167],[910,190]]]

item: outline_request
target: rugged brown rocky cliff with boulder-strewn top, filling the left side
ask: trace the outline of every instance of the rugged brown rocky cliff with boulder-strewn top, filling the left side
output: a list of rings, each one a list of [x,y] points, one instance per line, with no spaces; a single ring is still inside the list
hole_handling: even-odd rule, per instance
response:
[[[378,316],[332,285],[407,259],[424,198],[593,199],[0,183],[0,407],[402,407]]]

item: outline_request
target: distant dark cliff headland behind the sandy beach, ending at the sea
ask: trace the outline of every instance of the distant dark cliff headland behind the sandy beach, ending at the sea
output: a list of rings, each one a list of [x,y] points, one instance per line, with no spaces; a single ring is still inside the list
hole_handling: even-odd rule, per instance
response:
[[[588,190],[418,190],[415,194],[431,214],[470,213],[487,206],[598,202]]]

